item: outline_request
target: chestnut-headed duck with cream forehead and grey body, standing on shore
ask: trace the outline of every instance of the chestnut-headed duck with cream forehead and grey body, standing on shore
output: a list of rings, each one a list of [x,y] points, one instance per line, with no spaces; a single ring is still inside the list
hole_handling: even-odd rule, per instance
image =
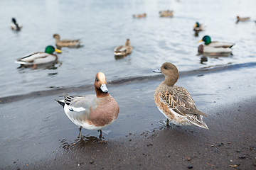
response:
[[[68,118],[78,125],[79,137],[82,139],[82,128],[98,130],[102,137],[102,129],[117,119],[119,106],[108,93],[105,74],[95,75],[95,94],[86,96],[71,96],[63,94],[63,100],[55,100],[63,106]]]

